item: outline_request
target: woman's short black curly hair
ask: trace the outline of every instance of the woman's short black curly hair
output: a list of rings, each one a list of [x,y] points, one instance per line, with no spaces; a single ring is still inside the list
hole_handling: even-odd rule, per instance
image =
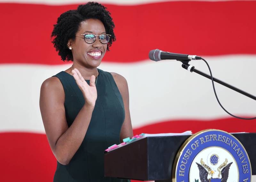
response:
[[[107,8],[96,2],[88,2],[79,5],[77,10],[69,10],[60,15],[57,24],[54,25],[51,38],[53,37],[53,45],[63,61],[73,61],[71,50],[68,49],[67,43],[69,39],[75,39],[75,35],[79,29],[80,23],[86,19],[99,19],[106,30],[106,34],[111,34],[108,42],[107,50],[113,41],[116,41],[114,34],[115,24],[110,17]]]

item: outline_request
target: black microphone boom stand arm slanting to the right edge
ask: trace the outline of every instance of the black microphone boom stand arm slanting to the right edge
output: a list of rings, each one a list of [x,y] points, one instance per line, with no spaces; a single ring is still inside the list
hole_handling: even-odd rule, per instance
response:
[[[221,80],[219,80],[217,78],[214,78],[214,77],[211,78],[211,75],[208,75],[208,74],[206,74],[204,72],[201,72],[200,70],[197,70],[195,68],[195,66],[188,64],[188,61],[182,61],[182,60],[177,60],[177,61],[181,61],[182,62],[182,68],[184,68],[184,69],[186,69],[186,70],[188,70],[190,72],[196,72],[197,74],[200,74],[200,75],[202,75],[202,76],[204,76],[206,78],[209,78],[210,80],[212,80],[212,78],[213,78],[213,81],[215,81],[215,82],[217,82],[217,83],[219,83],[219,84],[221,84],[221,85],[223,85],[225,87],[231,88],[232,90],[235,90],[236,92],[239,92],[240,94],[243,94],[243,95],[245,95],[247,97],[250,97],[253,100],[256,100],[256,96],[254,96],[252,94],[249,94],[247,92],[244,92],[243,90],[241,90],[239,88],[236,88],[236,87],[234,87],[234,86],[232,86],[232,85],[230,85],[230,84],[228,84],[228,83],[226,83],[224,81],[221,81]]]

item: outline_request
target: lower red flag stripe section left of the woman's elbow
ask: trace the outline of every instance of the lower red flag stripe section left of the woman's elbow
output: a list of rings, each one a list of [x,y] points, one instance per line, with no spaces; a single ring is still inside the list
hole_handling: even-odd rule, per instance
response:
[[[53,181],[56,159],[45,134],[0,133],[0,181]]]

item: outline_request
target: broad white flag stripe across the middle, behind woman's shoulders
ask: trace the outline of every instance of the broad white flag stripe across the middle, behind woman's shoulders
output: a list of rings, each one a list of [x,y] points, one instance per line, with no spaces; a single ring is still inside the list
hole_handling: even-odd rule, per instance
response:
[[[213,76],[256,95],[256,55],[206,57]],[[203,61],[191,61],[207,72]],[[44,133],[39,110],[42,82],[68,65],[0,64],[0,131]],[[181,68],[178,61],[143,61],[130,64],[102,63],[128,81],[132,125],[137,128],[173,119],[229,117],[218,105],[211,81]],[[256,116],[256,101],[216,84],[223,106],[236,115]]]

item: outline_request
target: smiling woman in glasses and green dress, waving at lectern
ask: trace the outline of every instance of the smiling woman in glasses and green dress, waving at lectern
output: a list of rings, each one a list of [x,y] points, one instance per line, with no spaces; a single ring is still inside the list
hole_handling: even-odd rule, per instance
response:
[[[65,71],[45,80],[40,110],[57,169],[56,182],[126,181],[104,177],[104,149],[132,137],[129,93],[124,77],[97,67],[115,41],[104,6],[89,2],[64,12],[54,25],[54,47]]]

